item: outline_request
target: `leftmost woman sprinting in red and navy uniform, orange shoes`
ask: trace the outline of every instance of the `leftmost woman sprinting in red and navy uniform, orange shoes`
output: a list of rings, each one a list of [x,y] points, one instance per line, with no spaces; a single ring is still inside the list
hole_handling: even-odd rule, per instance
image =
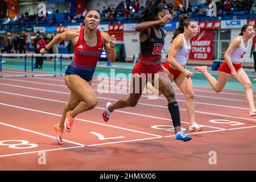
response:
[[[71,94],[68,103],[64,106],[60,123],[54,125],[57,142],[60,144],[63,144],[64,129],[67,132],[71,131],[76,115],[91,110],[97,105],[97,97],[90,84],[103,47],[108,60],[114,62],[117,57],[115,36],[110,37],[108,33],[97,30],[100,24],[98,11],[89,10],[84,22],[85,26],[80,30],[65,31],[40,50],[44,55],[49,48],[63,40],[71,40],[74,45],[74,61],[65,72],[65,83],[71,90]]]

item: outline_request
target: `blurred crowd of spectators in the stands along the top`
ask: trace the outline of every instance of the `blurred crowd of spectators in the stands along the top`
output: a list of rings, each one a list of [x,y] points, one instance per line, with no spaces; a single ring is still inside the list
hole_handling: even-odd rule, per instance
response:
[[[204,3],[191,3],[189,2],[188,7],[183,5],[179,6],[179,9],[175,10],[172,3],[168,3],[168,9],[170,10],[172,16],[175,18],[180,14],[188,14],[189,16],[206,16],[209,13],[209,3],[211,0],[205,0]],[[256,14],[256,1],[253,0],[218,0],[216,3],[217,15],[222,13],[231,14],[234,11],[243,11],[245,13]],[[101,14],[101,20],[109,19],[132,19],[137,15],[142,13],[145,9],[144,6],[141,6],[139,0],[125,0],[120,2],[116,7],[103,7],[103,10],[98,10]],[[71,14],[65,17],[65,22],[81,22],[85,18],[86,9],[83,12],[80,12],[74,16]],[[59,10],[56,10],[55,14],[59,13]],[[48,18],[47,18],[48,17]],[[50,18],[49,18],[50,17]],[[30,15],[27,12],[20,14],[18,17],[14,18],[6,17],[0,19],[0,23],[25,23],[25,22],[35,22],[35,23],[48,23],[51,26],[52,23],[57,22],[54,18],[54,14],[47,14],[46,16],[38,16],[36,14]]]

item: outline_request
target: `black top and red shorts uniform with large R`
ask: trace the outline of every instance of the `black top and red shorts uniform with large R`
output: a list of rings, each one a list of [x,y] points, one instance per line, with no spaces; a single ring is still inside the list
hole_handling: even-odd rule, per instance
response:
[[[144,42],[140,43],[141,51],[139,53],[139,61],[134,65],[133,75],[141,75],[144,73],[146,76],[151,73],[154,77],[155,73],[163,72],[161,65],[161,51],[164,45],[164,31],[162,32],[162,38],[158,38],[155,35],[154,28],[150,28],[150,36]]]

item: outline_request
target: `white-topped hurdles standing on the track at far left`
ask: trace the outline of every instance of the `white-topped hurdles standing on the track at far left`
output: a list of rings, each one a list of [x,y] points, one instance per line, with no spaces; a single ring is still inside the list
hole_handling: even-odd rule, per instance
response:
[[[24,57],[24,74],[22,75],[3,75],[3,57]],[[31,57],[31,74],[29,75],[27,73],[27,58]],[[53,73],[49,74],[36,74],[34,70],[34,57],[54,57],[53,61]],[[46,55],[41,55],[40,53],[0,53],[0,77],[5,78],[5,77],[27,77],[27,76],[32,76],[32,77],[44,77],[44,76],[64,76],[62,73],[62,59],[63,57],[74,57],[73,54],[49,54],[47,53]],[[57,59],[59,59],[59,65],[60,65],[60,72],[57,73]],[[39,71],[37,71],[39,72]]]

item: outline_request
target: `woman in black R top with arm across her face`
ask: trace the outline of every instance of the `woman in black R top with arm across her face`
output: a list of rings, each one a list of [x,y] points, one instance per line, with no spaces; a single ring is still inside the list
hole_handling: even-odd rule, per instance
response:
[[[183,140],[187,142],[191,140],[191,137],[187,137],[180,129],[180,113],[179,106],[176,102],[174,89],[172,88],[171,82],[168,77],[163,73],[163,68],[160,64],[161,61],[161,51],[164,44],[164,37],[167,32],[162,28],[167,22],[172,20],[172,16],[167,8],[167,6],[162,3],[162,1],[150,0],[146,10],[143,11],[141,15],[138,16],[138,20],[142,23],[137,24],[135,30],[139,33],[139,41],[141,45],[141,51],[139,56],[139,61],[135,64],[133,68],[133,77],[131,86],[133,86],[132,93],[130,93],[129,98],[122,98],[118,100],[115,104],[108,102],[105,107],[105,111],[102,114],[104,121],[108,121],[110,113],[115,109],[121,109],[124,107],[134,107],[137,105],[139,98],[142,95],[142,91],[146,86],[142,84],[142,76],[146,75],[146,81],[148,75],[153,77],[159,76],[159,91],[167,98],[168,109],[171,114],[172,122],[174,123],[175,139]],[[158,73],[158,74],[157,74]],[[139,78],[138,78],[139,76]],[[136,80],[139,80],[139,84],[135,85]],[[155,79],[154,79],[155,80]],[[154,82],[152,82],[154,85]],[[139,92],[135,93],[134,90],[138,89]]]

